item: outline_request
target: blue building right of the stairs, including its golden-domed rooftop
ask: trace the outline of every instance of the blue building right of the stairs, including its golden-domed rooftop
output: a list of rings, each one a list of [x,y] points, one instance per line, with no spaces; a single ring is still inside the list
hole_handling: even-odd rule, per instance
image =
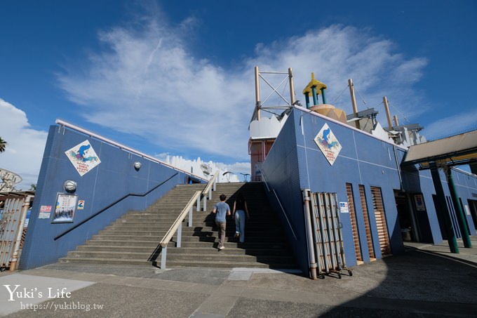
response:
[[[291,69],[289,74],[293,87]],[[351,80],[349,85],[352,90]],[[444,169],[435,169],[437,174],[433,175],[420,164],[405,164],[408,147],[426,141],[418,133],[422,127],[399,126],[397,122],[393,126],[388,114],[386,131],[375,120],[377,112],[369,110],[360,116],[352,92],[355,114],[347,117],[342,110],[326,104],[325,89],[325,84],[316,81],[312,74],[303,91],[307,107],[296,106],[292,95],[290,108],[279,116],[281,130],[276,139],[270,137],[271,133],[265,138],[256,133],[271,126],[260,115],[250,124],[251,145],[264,144],[263,140],[267,140],[267,147],[262,147],[267,149],[264,159],[260,160],[260,156],[255,161],[252,159],[255,164],[252,170],[257,171],[253,177],[266,181],[270,201],[274,202],[276,211],[283,211],[279,215],[301,270],[309,272],[312,266],[309,246],[317,244],[307,238],[304,190],[333,193],[337,206],[344,207],[339,218],[348,266],[401,253],[403,241],[411,240],[438,244],[449,239],[451,251],[458,253],[457,245],[451,246],[451,236],[463,237],[465,243],[466,235],[468,238],[469,234],[476,234],[476,175],[444,164],[441,165]],[[315,105],[310,107],[311,94]],[[323,104],[318,104],[319,95]],[[260,94],[256,96],[255,114],[263,107]],[[387,106],[386,100],[384,103]],[[469,138],[473,140],[471,151],[476,157],[476,134]],[[253,158],[254,148],[250,149]],[[451,197],[449,178],[455,184],[459,206],[464,211],[461,223],[458,206]],[[436,194],[438,187],[441,190]]]

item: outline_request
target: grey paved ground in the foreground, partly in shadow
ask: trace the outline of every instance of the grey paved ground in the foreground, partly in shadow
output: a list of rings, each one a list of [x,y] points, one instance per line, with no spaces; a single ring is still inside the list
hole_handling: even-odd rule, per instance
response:
[[[477,317],[477,237],[353,267],[353,276],[55,264],[0,273],[8,317]],[[5,286],[7,285],[7,286]],[[17,286],[18,285],[18,286]],[[61,297],[62,296],[62,297]]]

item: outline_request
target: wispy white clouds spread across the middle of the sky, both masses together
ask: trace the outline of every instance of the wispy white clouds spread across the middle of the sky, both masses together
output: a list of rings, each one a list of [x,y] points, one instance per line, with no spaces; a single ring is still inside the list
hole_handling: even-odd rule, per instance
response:
[[[187,152],[194,157],[200,150],[248,160],[255,65],[262,71],[286,72],[293,67],[295,91],[302,105],[302,89],[315,72],[316,79],[328,85],[328,103],[348,114],[349,93],[340,93],[349,78],[372,104],[368,107],[379,106],[387,95],[408,117],[426,109],[420,93],[412,88],[422,76],[426,60],[406,59],[395,52],[392,41],[376,37],[368,29],[332,25],[258,44],[255,56],[244,59],[239,67],[223,69],[212,60],[196,58],[184,44],[187,32],[193,32],[186,26],[201,24],[196,18],[177,27],[152,18],[142,21],[147,22],[140,31],[115,27],[101,32],[99,41],[106,49],[89,56],[86,72],[67,69],[58,81],[70,100],[85,107],[88,121],[140,135],[161,151]],[[270,89],[261,88],[264,99]],[[288,92],[289,88],[281,90],[286,98]],[[384,118],[383,108],[377,110]]]

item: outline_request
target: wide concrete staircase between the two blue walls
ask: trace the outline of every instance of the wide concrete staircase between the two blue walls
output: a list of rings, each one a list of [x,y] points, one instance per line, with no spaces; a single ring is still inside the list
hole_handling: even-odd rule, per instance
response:
[[[61,258],[60,263],[153,263],[159,266],[161,254],[156,251],[159,241],[194,192],[203,187],[205,185],[177,185],[146,211],[129,211],[86,244],[78,246],[76,251]],[[235,223],[230,216],[227,217],[225,249],[217,251],[217,228],[211,211],[222,193],[227,195],[227,203],[232,209],[238,191],[243,193],[250,211],[246,242],[238,246],[234,239]],[[168,244],[166,267],[297,267],[262,183],[217,183],[217,191],[207,201],[207,210],[198,212],[194,206],[192,227],[187,227],[186,217],[182,225],[182,247],[174,247],[174,241],[177,241],[174,236]]]

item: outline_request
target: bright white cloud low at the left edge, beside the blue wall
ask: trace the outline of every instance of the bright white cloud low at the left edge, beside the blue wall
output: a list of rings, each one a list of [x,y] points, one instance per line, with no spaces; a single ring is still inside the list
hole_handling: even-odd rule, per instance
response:
[[[1,98],[0,114],[0,136],[7,142],[0,153],[0,168],[20,175],[22,182],[15,187],[29,190],[38,181],[48,133],[30,128],[25,112]]]

